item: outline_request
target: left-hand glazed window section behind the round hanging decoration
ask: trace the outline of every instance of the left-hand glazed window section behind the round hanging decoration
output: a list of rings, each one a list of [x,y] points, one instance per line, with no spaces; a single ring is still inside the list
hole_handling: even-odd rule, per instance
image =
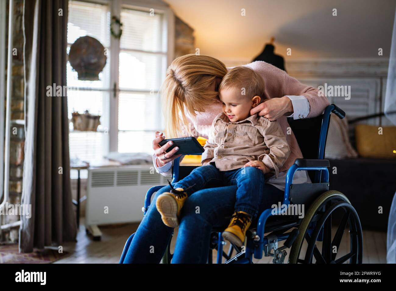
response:
[[[70,45],[81,36],[92,36],[102,45],[110,49],[110,11],[108,5],[93,4],[80,1],[69,1],[69,20],[67,25],[67,52]],[[88,110],[92,114],[101,115],[101,125],[97,132],[73,130],[70,123],[69,147],[70,157],[82,161],[100,159],[109,150],[109,96],[110,96],[110,62],[99,74],[99,81],[81,81],[77,78],[70,63],[67,62],[67,86],[77,90],[69,90],[67,96],[69,119],[72,112],[84,113]]]

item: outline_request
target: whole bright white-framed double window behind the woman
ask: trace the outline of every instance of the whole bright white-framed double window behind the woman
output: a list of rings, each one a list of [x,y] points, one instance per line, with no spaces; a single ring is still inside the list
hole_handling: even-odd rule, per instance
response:
[[[107,48],[99,81],[78,80],[67,64],[67,85],[77,89],[68,91],[69,118],[73,111],[101,115],[97,132],[78,132],[70,124],[71,158],[92,161],[109,151],[151,153],[154,132],[164,128],[158,91],[173,57],[173,14],[167,7],[137,3],[69,1],[67,51],[86,35]],[[111,15],[123,23],[120,39],[110,34]]]

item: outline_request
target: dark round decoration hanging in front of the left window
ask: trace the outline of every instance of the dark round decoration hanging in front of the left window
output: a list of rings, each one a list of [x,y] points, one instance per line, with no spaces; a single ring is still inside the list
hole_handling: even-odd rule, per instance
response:
[[[91,36],[78,38],[70,47],[69,62],[78,74],[79,80],[97,81],[105,67],[105,47]]]

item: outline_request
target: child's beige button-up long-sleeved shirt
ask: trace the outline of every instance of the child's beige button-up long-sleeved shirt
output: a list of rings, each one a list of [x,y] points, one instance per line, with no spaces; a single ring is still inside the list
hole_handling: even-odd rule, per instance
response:
[[[201,163],[211,159],[209,163],[220,171],[242,168],[249,161],[263,161],[275,177],[290,155],[278,121],[257,114],[238,122],[230,122],[224,113],[217,115],[204,150]]]

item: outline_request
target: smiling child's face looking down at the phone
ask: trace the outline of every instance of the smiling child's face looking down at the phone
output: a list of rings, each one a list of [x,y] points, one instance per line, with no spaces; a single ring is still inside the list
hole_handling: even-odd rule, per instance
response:
[[[221,102],[223,102],[223,112],[231,122],[237,122],[250,116],[250,110],[260,102],[259,96],[249,98],[242,95],[242,92],[235,88],[224,88],[219,92]]]

